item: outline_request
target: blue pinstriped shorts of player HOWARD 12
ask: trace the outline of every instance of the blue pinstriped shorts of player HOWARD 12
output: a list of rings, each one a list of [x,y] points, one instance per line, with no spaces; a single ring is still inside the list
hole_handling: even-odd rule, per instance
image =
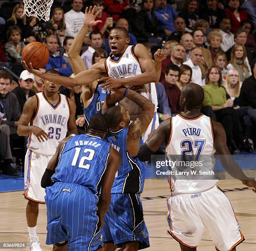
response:
[[[102,246],[98,198],[89,188],[57,182],[46,188],[46,244],[68,241],[69,251],[95,251]]]

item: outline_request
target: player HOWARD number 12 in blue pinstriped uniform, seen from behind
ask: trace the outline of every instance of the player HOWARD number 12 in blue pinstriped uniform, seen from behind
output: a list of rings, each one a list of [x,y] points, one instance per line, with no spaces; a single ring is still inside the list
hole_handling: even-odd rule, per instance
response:
[[[107,130],[105,116],[95,114],[87,134],[61,141],[47,166],[41,185],[46,188],[46,244],[54,244],[54,251],[103,250],[100,221],[121,162],[118,151],[102,140]]]

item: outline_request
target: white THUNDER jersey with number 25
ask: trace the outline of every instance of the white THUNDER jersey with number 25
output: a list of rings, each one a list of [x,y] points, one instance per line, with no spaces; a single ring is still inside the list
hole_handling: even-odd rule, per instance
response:
[[[69,120],[69,103],[65,95],[59,94],[59,103],[54,107],[44,93],[37,93],[38,101],[35,117],[30,125],[42,128],[49,136],[47,141],[39,142],[35,135],[28,138],[28,148],[39,154],[54,155],[61,140],[66,137]]]

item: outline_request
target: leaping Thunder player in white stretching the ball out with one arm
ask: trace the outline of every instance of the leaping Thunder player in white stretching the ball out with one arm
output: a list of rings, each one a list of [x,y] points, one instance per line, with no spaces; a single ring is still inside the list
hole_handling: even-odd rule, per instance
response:
[[[85,22],[84,25],[88,24]],[[34,70],[32,64],[28,67],[24,61],[22,63],[29,72],[67,87],[90,84],[100,78],[102,72],[109,75],[107,78],[98,79],[103,81],[100,86],[105,86],[105,88],[118,88],[122,85],[131,84],[144,85],[141,95],[151,100],[155,105],[154,118],[152,118],[151,124],[145,132],[144,139],[146,139],[151,129],[158,126],[156,87],[154,84],[151,84],[157,81],[157,74],[146,47],[142,44],[131,46],[129,43],[129,33],[125,28],[113,28],[109,35],[111,56],[107,58],[105,63],[100,61],[92,65],[89,70],[84,70],[77,74],[74,78],[41,73],[39,70]],[[131,120],[135,120],[140,108],[127,98],[121,100],[120,104],[129,111]]]

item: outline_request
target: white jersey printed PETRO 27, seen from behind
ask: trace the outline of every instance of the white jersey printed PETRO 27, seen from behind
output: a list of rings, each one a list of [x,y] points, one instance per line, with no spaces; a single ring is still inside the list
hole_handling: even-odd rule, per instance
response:
[[[193,155],[199,161],[201,156],[204,165],[200,167],[200,170],[213,171],[215,149],[213,147],[214,136],[210,118],[203,114],[196,118],[185,118],[178,114],[172,117],[171,127],[172,131],[166,146],[167,158],[172,159],[170,155],[182,157]],[[207,161],[205,161],[206,159]],[[190,167],[188,169],[192,170]],[[175,173],[174,176],[170,177],[172,195],[200,193],[213,188],[216,183],[218,183],[216,179],[181,179],[179,176],[175,176]]]

